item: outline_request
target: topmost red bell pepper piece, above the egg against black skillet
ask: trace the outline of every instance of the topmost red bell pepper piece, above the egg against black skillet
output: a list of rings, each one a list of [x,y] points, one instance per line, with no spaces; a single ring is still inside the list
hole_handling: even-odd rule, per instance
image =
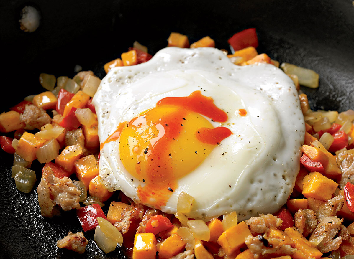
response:
[[[233,47],[235,51],[242,50],[246,47],[258,47],[258,37],[256,28],[249,28],[234,34],[227,42]]]

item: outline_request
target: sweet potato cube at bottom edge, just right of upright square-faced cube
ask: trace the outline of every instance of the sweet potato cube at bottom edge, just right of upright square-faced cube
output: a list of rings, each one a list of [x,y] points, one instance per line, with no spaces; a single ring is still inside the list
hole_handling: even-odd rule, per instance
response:
[[[169,259],[184,250],[185,243],[177,234],[172,234],[166,240],[160,243],[157,251],[159,252],[159,259]]]

